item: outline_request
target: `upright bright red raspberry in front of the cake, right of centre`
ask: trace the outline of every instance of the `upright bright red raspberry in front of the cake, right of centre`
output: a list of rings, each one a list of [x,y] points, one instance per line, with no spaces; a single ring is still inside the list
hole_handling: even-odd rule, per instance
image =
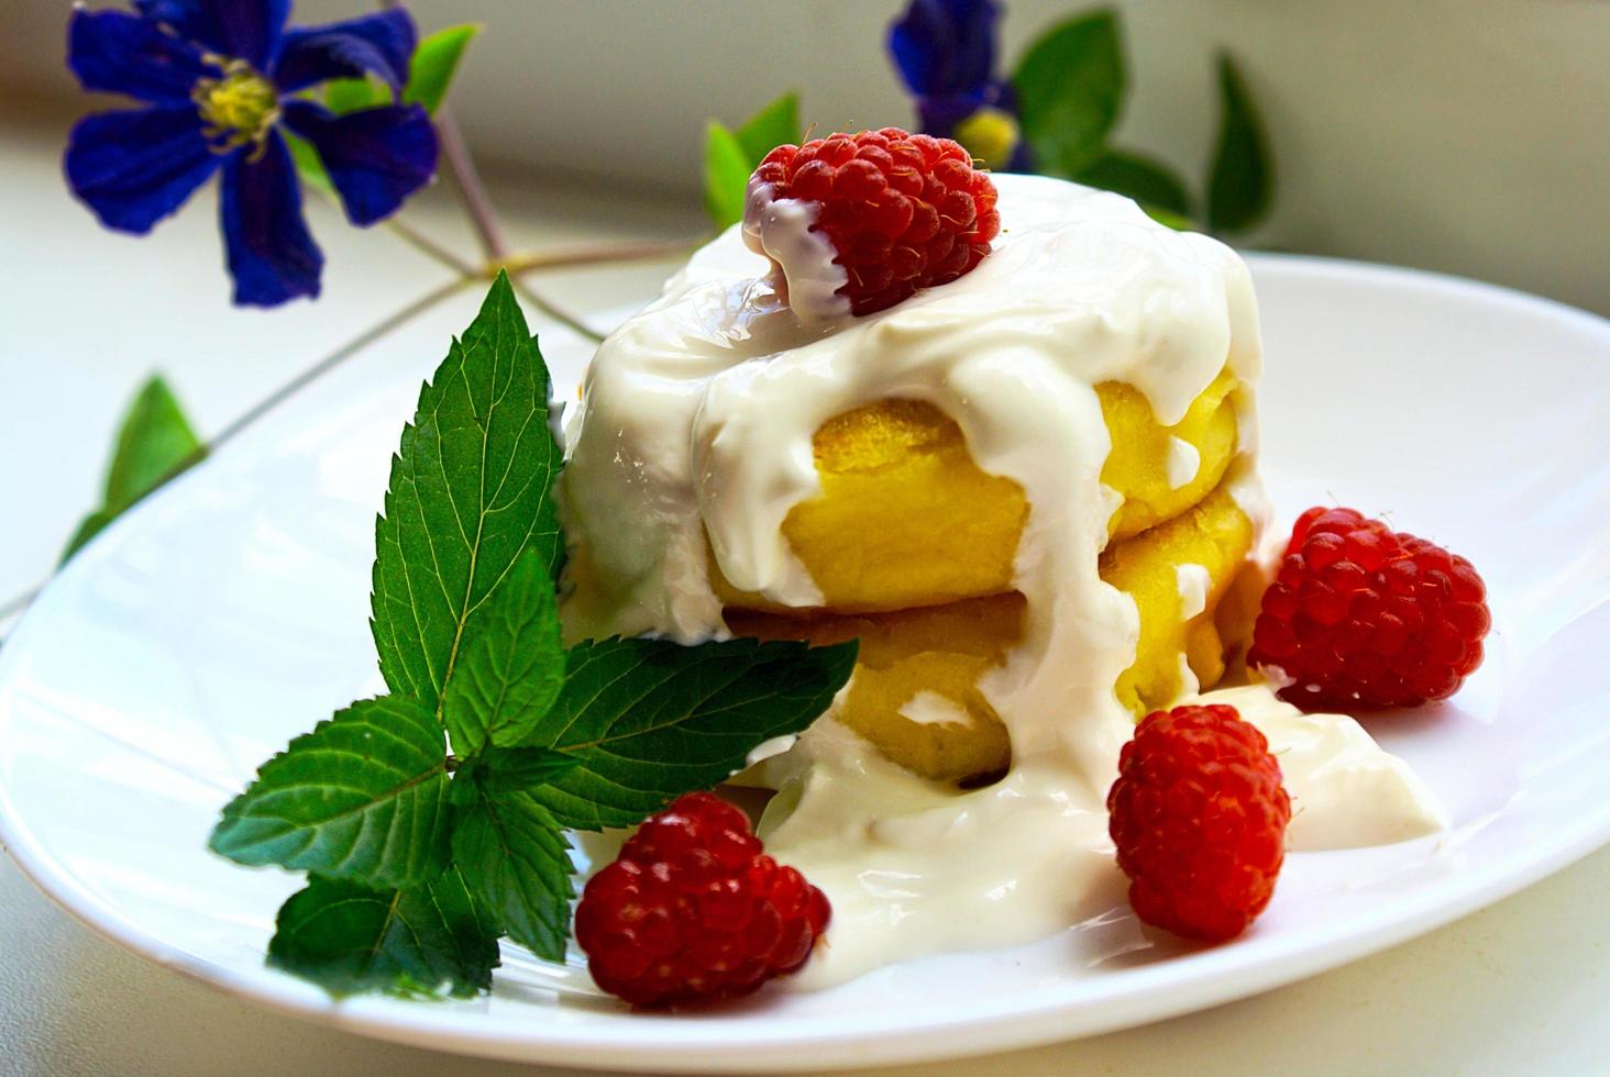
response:
[[[1235,707],[1175,707],[1140,723],[1108,792],[1108,832],[1148,924],[1222,942],[1275,892],[1291,798],[1264,734]]]

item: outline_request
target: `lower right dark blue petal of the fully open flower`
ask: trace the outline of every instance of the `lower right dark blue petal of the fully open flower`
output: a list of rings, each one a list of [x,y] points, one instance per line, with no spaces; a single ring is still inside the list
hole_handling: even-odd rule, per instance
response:
[[[346,217],[365,225],[396,213],[436,174],[436,129],[419,105],[336,116],[312,101],[285,101],[285,126],[319,150]]]

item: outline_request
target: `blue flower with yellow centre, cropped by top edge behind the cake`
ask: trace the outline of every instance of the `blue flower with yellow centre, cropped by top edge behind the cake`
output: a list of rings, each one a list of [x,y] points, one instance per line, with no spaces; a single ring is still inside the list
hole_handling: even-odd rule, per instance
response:
[[[993,0],[911,0],[889,52],[916,95],[923,130],[955,138],[989,167],[1029,171],[1011,84],[995,77]]]

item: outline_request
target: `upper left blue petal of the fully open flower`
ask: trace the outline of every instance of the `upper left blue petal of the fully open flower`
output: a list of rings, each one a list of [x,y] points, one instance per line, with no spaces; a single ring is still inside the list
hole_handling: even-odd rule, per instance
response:
[[[195,80],[211,74],[190,42],[127,11],[79,8],[68,24],[68,66],[85,90],[127,93],[156,105],[188,103]]]

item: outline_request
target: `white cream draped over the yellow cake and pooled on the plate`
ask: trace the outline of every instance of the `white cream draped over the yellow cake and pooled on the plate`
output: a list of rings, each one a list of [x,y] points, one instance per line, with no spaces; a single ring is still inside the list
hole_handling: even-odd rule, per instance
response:
[[[599,348],[568,431],[565,526],[573,563],[586,565],[565,604],[575,638],[724,636],[707,536],[737,588],[818,605],[781,525],[819,489],[816,428],[869,401],[935,404],[979,467],[1014,478],[1034,507],[1016,562],[1024,639],[979,684],[1011,734],[1003,781],[966,794],[934,786],[831,713],[762,766],[781,787],[765,819],[768,852],[834,905],[829,945],[802,985],[1027,942],[1122,900],[1104,797],[1133,729],[1113,686],[1133,660],[1138,617],[1096,575],[1119,499],[1100,481],[1109,438],[1092,386],[1127,382],[1175,423],[1228,362],[1240,430],[1228,481],[1254,526],[1267,520],[1254,467],[1262,357],[1241,259],[1117,195],[1040,177],[995,182],[1003,227],[992,254],[961,280],[860,319],[797,316],[770,262],[741,227],[728,230]],[[773,230],[760,245],[792,250],[787,229],[807,222],[789,224],[776,206],[755,211]],[[807,270],[808,241],[792,238]],[[1293,826],[1299,837],[1397,840],[1435,816],[1401,763],[1381,763],[1389,757],[1362,731],[1346,731],[1351,720],[1302,724],[1277,713],[1283,705],[1246,704],[1261,715],[1248,720],[1291,739],[1288,787],[1325,776],[1320,792],[1302,794],[1301,818],[1317,818]],[[1343,802],[1354,789],[1388,787],[1401,795],[1380,797],[1377,815],[1325,818],[1356,813]]]

